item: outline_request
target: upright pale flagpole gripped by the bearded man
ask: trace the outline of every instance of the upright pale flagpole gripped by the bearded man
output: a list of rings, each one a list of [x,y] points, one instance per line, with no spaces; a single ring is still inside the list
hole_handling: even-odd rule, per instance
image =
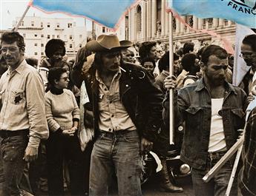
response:
[[[169,74],[174,74],[173,69],[173,59],[174,59],[174,51],[173,51],[173,24],[172,24],[172,12],[169,12]],[[170,99],[169,99],[169,108],[170,108],[170,144],[174,144],[174,89],[170,89]]]

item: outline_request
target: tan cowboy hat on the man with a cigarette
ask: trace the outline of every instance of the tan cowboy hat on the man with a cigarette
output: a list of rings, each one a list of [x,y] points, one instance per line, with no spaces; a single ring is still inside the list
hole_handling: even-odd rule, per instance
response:
[[[108,52],[113,50],[122,50],[132,46],[128,40],[119,41],[116,35],[101,35],[97,40],[89,41],[85,47],[92,52]]]

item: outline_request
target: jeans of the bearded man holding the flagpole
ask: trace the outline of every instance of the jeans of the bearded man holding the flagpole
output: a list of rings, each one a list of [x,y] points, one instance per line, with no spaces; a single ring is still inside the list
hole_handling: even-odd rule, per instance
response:
[[[203,177],[209,172],[209,170],[220,160],[222,156],[217,158],[208,158],[207,166],[205,170],[194,169],[191,170],[191,177],[193,182],[193,189],[195,196],[224,196],[229,184],[229,178],[232,173],[232,165],[229,161],[221,167],[217,175],[208,183],[203,182]],[[234,178],[232,185],[232,191],[230,196],[237,195],[237,176]]]

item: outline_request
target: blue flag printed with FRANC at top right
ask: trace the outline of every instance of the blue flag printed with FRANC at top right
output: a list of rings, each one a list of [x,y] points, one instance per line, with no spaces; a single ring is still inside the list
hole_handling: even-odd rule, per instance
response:
[[[256,28],[256,0],[168,0],[180,15],[226,18]]]

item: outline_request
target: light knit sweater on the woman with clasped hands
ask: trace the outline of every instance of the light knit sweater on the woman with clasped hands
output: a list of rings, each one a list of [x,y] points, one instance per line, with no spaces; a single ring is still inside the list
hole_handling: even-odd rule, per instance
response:
[[[50,91],[45,94],[45,111],[47,124],[51,132],[71,129],[73,118],[79,119],[79,107],[76,98],[69,89],[63,89],[61,95],[54,95]]]

